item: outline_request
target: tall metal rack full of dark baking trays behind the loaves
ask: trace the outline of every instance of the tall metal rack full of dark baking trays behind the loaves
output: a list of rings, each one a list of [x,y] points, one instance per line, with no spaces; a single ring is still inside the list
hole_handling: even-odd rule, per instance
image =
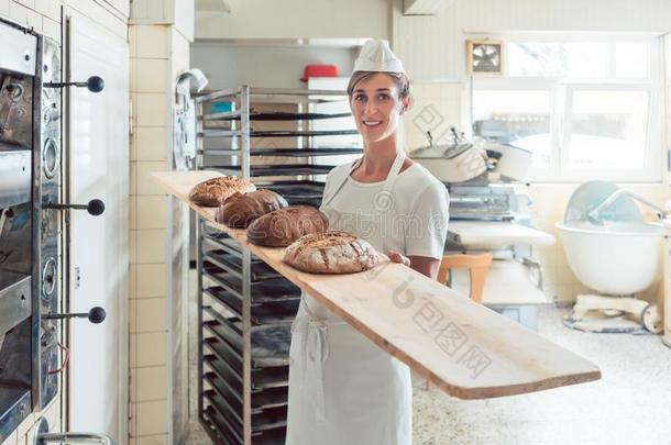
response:
[[[319,207],[324,175],[362,153],[343,91],[242,86],[196,104],[197,168],[250,179],[289,204]],[[300,289],[202,218],[197,227],[200,422],[218,444],[284,444]]]

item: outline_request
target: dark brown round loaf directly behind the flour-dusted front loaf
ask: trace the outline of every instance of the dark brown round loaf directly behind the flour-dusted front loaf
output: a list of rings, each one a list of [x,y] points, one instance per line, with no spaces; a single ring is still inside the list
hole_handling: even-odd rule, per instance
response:
[[[264,214],[250,224],[248,241],[267,247],[285,247],[309,233],[323,233],[329,220],[311,205],[289,205]]]

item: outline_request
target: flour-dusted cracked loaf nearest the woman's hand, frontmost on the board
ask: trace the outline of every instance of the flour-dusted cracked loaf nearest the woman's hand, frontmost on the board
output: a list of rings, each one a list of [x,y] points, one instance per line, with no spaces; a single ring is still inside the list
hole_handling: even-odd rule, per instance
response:
[[[369,270],[380,259],[380,254],[369,242],[339,231],[301,236],[284,253],[286,264],[311,274]]]

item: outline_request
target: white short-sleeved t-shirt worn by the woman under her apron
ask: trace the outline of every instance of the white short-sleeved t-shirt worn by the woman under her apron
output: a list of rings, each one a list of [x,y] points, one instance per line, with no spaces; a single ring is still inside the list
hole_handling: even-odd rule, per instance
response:
[[[450,197],[442,182],[415,163],[385,192],[384,181],[359,182],[349,176],[350,169],[351,165],[341,165],[327,177],[324,197],[346,176],[338,194],[320,209],[329,216],[329,229],[353,233],[384,254],[393,249],[442,258],[450,218]]]

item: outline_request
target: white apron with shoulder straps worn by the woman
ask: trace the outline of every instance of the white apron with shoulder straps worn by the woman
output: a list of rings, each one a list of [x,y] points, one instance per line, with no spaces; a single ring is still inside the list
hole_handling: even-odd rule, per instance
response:
[[[400,153],[396,156],[383,192],[391,193],[404,158]],[[343,229],[340,221],[345,215],[330,203],[360,162],[323,199],[321,211],[329,218],[330,227]],[[375,209],[373,203],[371,209]],[[393,207],[378,214],[391,212]],[[355,232],[355,227],[346,229]],[[386,254],[384,240],[370,235],[365,240]],[[311,297],[304,296],[292,326],[286,444],[411,444],[413,387],[408,367],[334,314],[317,318],[315,309],[326,311]]]

